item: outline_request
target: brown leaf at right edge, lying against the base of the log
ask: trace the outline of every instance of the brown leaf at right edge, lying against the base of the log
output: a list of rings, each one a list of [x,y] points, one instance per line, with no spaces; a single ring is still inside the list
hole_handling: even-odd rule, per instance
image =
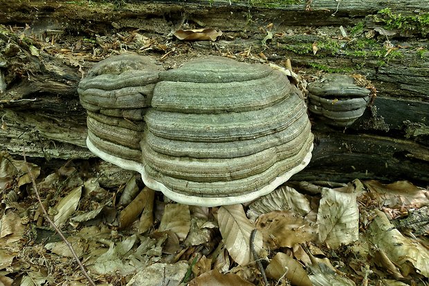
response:
[[[372,197],[383,206],[390,208],[421,208],[429,205],[429,192],[414,186],[409,181],[396,181],[392,184],[381,184],[378,181],[365,181]]]

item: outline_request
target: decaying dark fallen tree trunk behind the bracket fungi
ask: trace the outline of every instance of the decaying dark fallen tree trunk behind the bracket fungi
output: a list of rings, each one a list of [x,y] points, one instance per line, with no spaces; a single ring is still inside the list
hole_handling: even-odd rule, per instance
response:
[[[282,3],[282,4],[279,4]],[[286,4],[285,2],[290,2]],[[385,8],[390,8],[385,9]],[[311,118],[316,148],[295,179],[429,181],[429,7],[425,1],[0,1],[0,145],[11,154],[89,159],[77,84],[121,50],[166,68],[199,55],[290,59],[304,80],[359,73],[378,96],[352,126]],[[179,28],[215,28],[183,42]]]

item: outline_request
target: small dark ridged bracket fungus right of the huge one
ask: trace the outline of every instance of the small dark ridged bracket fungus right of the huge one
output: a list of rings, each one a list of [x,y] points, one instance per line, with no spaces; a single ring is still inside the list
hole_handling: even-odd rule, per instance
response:
[[[309,83],[309,111],[334,126],[349,126],[362,116],[369,89],[358,87],[349,75],[328,74]]]

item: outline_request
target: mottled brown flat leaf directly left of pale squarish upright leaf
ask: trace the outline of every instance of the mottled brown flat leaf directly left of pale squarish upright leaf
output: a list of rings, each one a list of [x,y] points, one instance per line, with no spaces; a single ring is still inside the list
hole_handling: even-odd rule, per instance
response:
[[[296,244],[309,242],[316,238],[313,228],[307,220],[290,211],[273,211],[261,215],[257,220],[257,229],[264,235],[270,249],[278,247],[294,247]],[[274,236],[273,244],[270,244]]]

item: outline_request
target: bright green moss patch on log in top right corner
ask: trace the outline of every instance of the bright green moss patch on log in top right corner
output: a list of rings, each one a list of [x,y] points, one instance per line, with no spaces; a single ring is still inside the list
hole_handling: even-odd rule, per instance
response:
[[[399,29],[405,32],[417,33],[425,37],[429,33],[429,12],[415,16],[404,16],[394,13],[390,8],[378,11],[375,20],[385,24],[385,28]]]

